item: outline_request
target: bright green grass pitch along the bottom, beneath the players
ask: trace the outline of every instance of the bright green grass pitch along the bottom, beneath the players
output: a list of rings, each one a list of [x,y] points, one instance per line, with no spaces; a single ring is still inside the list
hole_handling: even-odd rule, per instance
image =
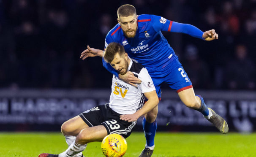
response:
[[[125,157],[138,157],[145,145],[144,134],[126,139]],[[59,154],[67,148],[61,133],[0,133],[0,157],[38,157]],[[89,143],[85,157],[104,157],[101,143]],[[152,157],[256,157],[256,133],[166,133],[157,132]]]

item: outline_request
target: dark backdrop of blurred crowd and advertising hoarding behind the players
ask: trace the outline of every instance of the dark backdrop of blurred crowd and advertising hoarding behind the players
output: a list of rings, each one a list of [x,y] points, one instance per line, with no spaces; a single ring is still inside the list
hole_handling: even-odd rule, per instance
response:
[[[0,131],[59,131],[65,120],[108,102],[112,74],[100,57],[79,57],[87,45],[104,48],[117,8],[128,3],[137,14],[215,29],[219,39],[210,42],[163,34],[196,93],[230,131],[255,131],[256,0],[0,0]],[[158,131],[217,131],[163,88]]]

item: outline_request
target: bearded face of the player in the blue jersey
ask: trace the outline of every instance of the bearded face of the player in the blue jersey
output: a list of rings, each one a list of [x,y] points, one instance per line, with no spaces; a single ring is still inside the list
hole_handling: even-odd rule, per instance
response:
[[[120,16],[119,19],[117,19],[126,37],[135,37],[138,28],[137,19],[138,16],[136,14],[127,17]]]

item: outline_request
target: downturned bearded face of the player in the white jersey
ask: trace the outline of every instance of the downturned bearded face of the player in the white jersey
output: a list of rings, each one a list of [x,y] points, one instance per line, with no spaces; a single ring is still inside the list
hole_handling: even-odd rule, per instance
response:
[[[112,62],[110,62],[110,65],[117,70],[121,75],[124,75],[127,72],[128,69],[128,54],[125,53],[123,55],[119,55],[119,53],[117,53],[114,56],[114,60],[112,60]]]

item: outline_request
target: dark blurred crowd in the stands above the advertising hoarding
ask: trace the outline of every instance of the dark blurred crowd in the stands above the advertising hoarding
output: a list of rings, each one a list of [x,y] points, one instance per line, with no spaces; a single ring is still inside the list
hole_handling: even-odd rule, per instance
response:
[[[215,29],[216,41],[163,32],[195,89],[256,89],[256,0],[0,0],[1,88],[109,88],[101,58],[117,8]],[[165,87],[165,86],[164,86]]]

